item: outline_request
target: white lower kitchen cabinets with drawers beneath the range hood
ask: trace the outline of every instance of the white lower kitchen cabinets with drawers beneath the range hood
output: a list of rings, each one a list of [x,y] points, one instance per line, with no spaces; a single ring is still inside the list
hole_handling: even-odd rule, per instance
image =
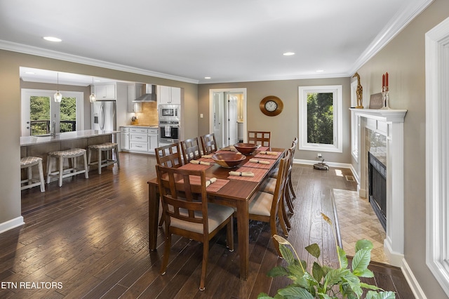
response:
[[[121,150],[154,154],[158,147],[158,128],[142,126],[122,126]]]

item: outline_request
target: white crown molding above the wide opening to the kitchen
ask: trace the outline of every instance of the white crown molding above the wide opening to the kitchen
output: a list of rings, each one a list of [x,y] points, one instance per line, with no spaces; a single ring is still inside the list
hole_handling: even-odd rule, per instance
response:
[[[138,67],[128,67],[126,65],[119,65],[117,63],[86,58],[86,57],[62,53],[62,52],[58,52],[58,51],[46,50],[46,49],[38,48],[38,47],[34,47],[34,46],[27,46],[24,44],[12,43],[11,41],[0,40],[0,49],[18,52],[18,53],[36,55],[36,56],[41,56],[41,57],[46,57],[46,58],[65,60],[65,61],[69,61],[69,62],[76,62],[76,63],[81,63],[83,65],[92,65],[95,67],[105,67],[107,69],[115,69],[118,71],[130,72],[130,73],[134,73],[134,74],[142,74],[145,76],[157,77],[157,78],[162,78],[162,79],[182,81],[182,82],[187,82],[187,83],[192,83],[192,84],[198,84],[198,82],[199,82],[198,80],[194,80],[194,79],[177,77],[177,76],[173,76],[170,74],[163,74],[163,73],[159,73],[159,72],[152,72],[147,69],[140,69]]]

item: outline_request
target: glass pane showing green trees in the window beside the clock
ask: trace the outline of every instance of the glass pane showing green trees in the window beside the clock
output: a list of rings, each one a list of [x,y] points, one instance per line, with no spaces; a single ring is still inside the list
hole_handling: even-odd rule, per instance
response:
[[[333,145],[333,93],[307,93],[307,142]]]

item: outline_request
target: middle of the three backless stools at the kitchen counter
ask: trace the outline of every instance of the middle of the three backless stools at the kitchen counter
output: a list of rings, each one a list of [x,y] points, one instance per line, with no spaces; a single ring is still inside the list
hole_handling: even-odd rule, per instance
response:
[[[75,158],[81,157],[81,156],[83,156],[83,158],[84,158],[84,168],[77,168]],[[52,170],[52,166],[53,166],[53,158],[56,160],[59,160],[59,170],[52,172],[51,170]],[[64,169],[64,159],[70,159],[69,160],[69,168]],[[50,177],[54,176],[54,177],[59,178],[59,187],[61,187],[63,178],[69,178],[73,175],[77,175],[80,173],[84,173],[84,177],[89,178],[86,150],[75,148],[75,149],[70,149],[70,150],[60,150],[60,151],[48,153],[47,184],[50,182]]]

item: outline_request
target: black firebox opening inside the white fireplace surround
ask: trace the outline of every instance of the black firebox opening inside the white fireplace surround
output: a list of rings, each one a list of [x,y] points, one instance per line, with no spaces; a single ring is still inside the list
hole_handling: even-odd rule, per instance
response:
[[[387,166],[368,152],[368,187],[370,204],[380,224],[387,230]]]

